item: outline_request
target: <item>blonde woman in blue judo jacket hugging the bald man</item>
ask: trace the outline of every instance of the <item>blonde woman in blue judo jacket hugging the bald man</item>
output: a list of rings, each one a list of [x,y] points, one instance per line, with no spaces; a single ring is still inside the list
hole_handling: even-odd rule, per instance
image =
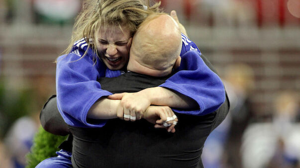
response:
[[[110,92],[101,90],[97,79],[104,76],[115,77],[124,73],[121,70],[126,69],[133,34],[148,15],[159,14],[159,5],[160,3],[155,3],[153,6],[149,3],[144,5],[139,0],[84,2],[72,35],[72,41],[81,40],[72,42],[65,51],[66,55],[57,59],[57,106],[68,125],[100,128],[107,121],[103,119],[110,119],[109,116],[102,115],[100,118],[94,118],[102,120],[87,121],[93,110],[97,109],[91,107],[100,106],[105,103],[103,100],[107,99],[106,96],[111,95]],[[181,55],[190,50],[200,53],[187,36],[182,34],[182,39]],[[195,85],[195,78],[175,73],[161,85],[163,88],[155,87],[135,94],[127,94],[121,102],[129,102],[134,106],[121,103],[124,115],[120,118],[131,121],[140,119],[143,112],[152,104],[177,108],[172,110],[193,115],[205,115],[215,111],[225,99],[223,85],[219,78],[215,78],[213,72],[205,75],[199,71],[197,73],[200,74],[193,75],[198,77],[202,75],[197,85]],[[145,95],[149,92],[159,95],[154,101],[156,104],[153,100],[147,100]],[[141,101],[130,102],[132,97],[138,97]]]

